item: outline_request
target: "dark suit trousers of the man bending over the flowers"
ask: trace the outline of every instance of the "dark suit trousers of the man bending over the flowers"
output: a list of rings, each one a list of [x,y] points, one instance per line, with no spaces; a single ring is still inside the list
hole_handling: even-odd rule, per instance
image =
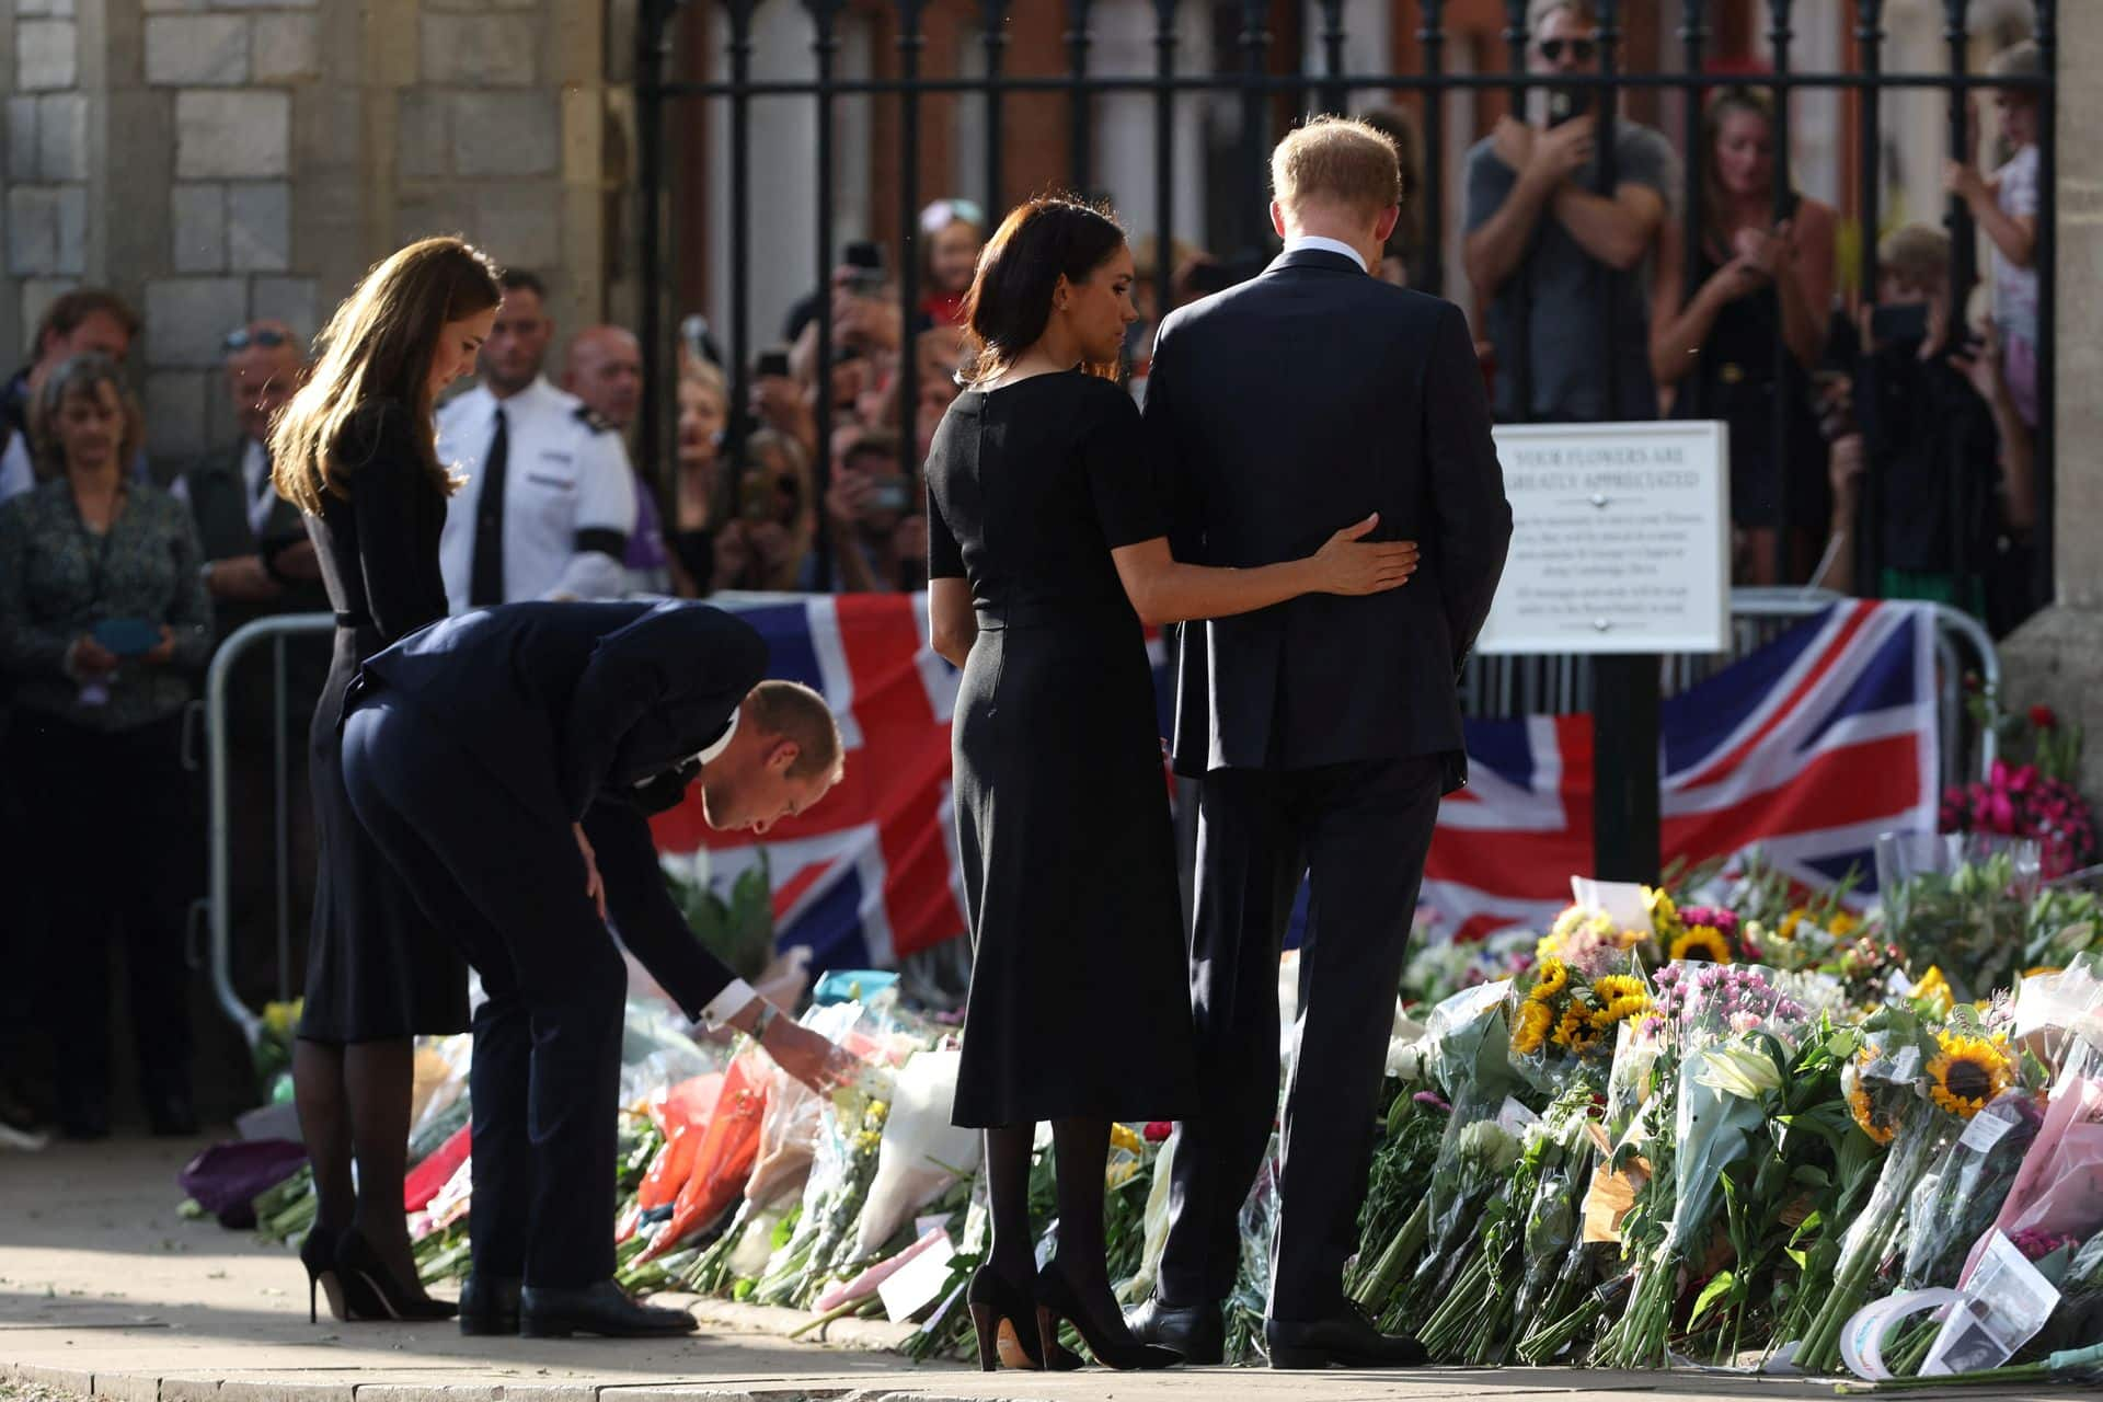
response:
[[[387,692],[345,723],[343,782],[488,994],[469,1072],[475,1272],[534,1286],[608,1280],[627,963],[585,895],[570,824],[530,811]]]

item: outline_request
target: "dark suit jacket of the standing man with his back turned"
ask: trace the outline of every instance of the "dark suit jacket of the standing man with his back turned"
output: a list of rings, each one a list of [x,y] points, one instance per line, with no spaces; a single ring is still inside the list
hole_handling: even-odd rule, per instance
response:
[[[1462,311],[1338,252],[1289,252],[1163,324],[1146,429],[1178,559],[1298,559],[1373,511],[1371,540],[1424,551],[1384,595],[1182,626],[1178,774],[1447,755],[1464,782],[1455,679],[1512,534],[1489,425]]]

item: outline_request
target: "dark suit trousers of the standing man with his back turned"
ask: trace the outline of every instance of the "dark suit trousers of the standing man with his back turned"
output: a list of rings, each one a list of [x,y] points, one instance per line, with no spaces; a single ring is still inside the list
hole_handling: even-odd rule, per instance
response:
[[[1205,776],[1190,998],[1211,1074],[1176,1150],[1167,1303],[1234,1288],[1241,1207],[1279,1110],[1279,954],[1308,872],[1268,1312],[1304,1322],[1342,1307],[1441,788],[1434,755]]]

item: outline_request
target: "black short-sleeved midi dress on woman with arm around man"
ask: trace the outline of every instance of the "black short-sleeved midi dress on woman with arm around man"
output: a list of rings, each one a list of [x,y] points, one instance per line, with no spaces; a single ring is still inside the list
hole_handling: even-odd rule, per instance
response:
[[[953,723],[976,963],[955,1122],[1169,1120],[1197,1085],[1161,723],[1110,549],[1167,534],[1117,385],[1043,374],[951,404],[927,574],[969,578]]]

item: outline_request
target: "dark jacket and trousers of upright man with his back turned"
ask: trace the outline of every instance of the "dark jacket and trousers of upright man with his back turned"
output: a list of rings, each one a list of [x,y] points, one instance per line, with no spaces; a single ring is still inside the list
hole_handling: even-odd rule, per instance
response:
[[[1253,568],[1380,513],[1407,586],[1180,628],[1176,771],[1203,780],[1190,986],[1203,1114],[1176,1156],[1161,1295],[1226,1299],[1279,1093],[1279,946],[1302,874],[1302,1034],[1270,1314],[1340,1310],[1394,994],[1438,797],[1466,782],[1455,677],[1512,513],[1468,322],[1300,248],[1171,315],[1146,380],[1176,559]]]

